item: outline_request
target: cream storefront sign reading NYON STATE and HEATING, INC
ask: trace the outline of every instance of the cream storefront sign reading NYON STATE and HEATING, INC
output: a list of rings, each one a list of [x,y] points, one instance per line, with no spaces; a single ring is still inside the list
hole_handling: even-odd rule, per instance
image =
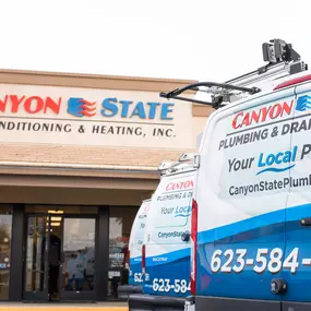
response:
[[[0,141],[192,146],[191,104],[155,92],[0,84]]]

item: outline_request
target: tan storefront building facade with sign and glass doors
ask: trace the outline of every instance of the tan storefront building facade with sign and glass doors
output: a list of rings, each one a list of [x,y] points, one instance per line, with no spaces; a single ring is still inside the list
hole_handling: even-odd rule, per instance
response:
[[[0,71],[0,300],[104,301],[163,160],[196,149],[193,81]]]

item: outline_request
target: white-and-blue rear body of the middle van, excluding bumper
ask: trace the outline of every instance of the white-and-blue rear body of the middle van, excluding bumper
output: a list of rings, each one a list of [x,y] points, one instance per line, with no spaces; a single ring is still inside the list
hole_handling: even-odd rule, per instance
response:
[[[144,235],[144,294],[190,294],[189,237],[195,174],[192,165],[180,164],[176,171],[162,177],[153,195]]]

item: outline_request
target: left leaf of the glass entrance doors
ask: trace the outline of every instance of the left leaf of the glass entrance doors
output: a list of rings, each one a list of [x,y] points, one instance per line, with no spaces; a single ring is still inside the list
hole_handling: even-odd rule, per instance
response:
[[[27,217],[24,299],[48,300],[49,216]]]

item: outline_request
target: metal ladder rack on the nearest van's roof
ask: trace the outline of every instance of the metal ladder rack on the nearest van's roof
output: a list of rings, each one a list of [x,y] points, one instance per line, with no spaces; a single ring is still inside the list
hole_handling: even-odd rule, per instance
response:
[[[263,59],[268,63],[247,74],[231,79],[225,83],[217,82],[199,82],[186,85],[171,92],[159,94],[166,99],[179,99],[202,105],[210,105],[214,109],[218,109],[230,103],[236,101],[241,96],[253,95],[262,89],[255,85],[263,81],[277,80],[287,75],[296,74],[308,70],[300,59],[300,55],[294,50],[291,44],[287,44],[282,39],[272,39],[270,43],[262,45]],[[180,96],[186,92],[203,92],[211,94],[211,101],[196,98]]]

